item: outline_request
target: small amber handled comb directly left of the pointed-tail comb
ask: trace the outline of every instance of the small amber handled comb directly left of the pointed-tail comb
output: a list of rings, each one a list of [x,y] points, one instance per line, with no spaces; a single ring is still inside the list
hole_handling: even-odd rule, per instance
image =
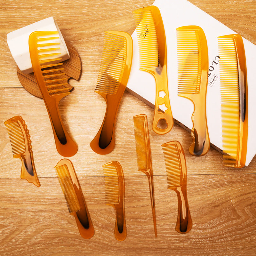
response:
[[[121,165],[109,162],[103,165],[106,204],[116,209],[115,237],[118,241],[126,238],[124,214],[124,174]]]

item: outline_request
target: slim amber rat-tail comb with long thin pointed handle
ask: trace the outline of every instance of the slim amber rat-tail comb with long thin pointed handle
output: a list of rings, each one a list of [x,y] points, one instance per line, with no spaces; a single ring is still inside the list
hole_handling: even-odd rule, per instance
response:
[[[155,236],[157,237],[154,184],[153,184],[153,172],[152,172],[147,116],[146,115],[133,116],[133,123],[134,123],[134,134],[135,134],[138,169],[139,171],[144,172],[148,177]]]

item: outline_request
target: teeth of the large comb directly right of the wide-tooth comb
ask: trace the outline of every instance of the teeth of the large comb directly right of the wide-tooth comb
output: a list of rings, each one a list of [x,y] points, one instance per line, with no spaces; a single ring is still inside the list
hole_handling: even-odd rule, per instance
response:
[[[96,92],[115,95],[124,73],[127,44],[123,36],[105,32]]]

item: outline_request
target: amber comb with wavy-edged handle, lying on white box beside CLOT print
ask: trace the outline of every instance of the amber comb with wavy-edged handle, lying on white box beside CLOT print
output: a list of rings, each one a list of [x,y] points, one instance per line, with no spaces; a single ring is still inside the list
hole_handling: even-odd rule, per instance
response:
[[[206,120],[206,91],[208,81],[208,48],[202,28],[177,28],[178,95],[194,104],[191,130],[192,144],[189,153],[203,156],[210,148]]]

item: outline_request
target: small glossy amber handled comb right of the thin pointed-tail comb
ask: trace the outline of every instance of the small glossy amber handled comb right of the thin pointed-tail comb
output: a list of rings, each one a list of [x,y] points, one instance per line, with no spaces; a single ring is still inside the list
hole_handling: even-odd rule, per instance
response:
[[[179,141],[162,145],[167,174],[167,188],[173,189],[178,196],[178,218],[175,230],[187,233],[192,228],[192,220],[187,199],[187,167],[183,148]]]

